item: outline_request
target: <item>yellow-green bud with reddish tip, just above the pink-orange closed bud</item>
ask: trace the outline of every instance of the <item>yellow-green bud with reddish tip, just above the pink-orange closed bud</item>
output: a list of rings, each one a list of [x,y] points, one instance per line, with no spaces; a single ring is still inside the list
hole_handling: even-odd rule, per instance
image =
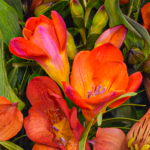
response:
[[[108,15],[104,5],[102,5],[93,18],[92,26],[90,28],[90,33],[100,34],[104,29],[104,27],[107,25],[107,23],[108,23]]]

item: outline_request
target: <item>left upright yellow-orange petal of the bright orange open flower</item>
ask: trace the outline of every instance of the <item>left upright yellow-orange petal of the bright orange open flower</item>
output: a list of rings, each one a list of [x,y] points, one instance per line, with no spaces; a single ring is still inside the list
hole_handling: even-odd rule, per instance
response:
[[[71,73],[71,86],[82,98],[87,97],[87,91],[92,86],[93,69],[87,65],[89,51],[79,52],[73,62]]]

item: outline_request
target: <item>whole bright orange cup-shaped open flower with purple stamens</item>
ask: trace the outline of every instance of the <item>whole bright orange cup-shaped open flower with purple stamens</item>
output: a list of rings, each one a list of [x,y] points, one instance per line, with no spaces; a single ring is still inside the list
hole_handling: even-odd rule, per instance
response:
[[[136,91],[142,74],[129,76],[121,51],[108,43],[91,52],[79,52],[74,58],[70,80],[70,85],[63,82],[64,91],[90,121],[96,115],[94,111],[98,112],[122,94]],[[117,100],[109,107],[117,107],[127,99]]]

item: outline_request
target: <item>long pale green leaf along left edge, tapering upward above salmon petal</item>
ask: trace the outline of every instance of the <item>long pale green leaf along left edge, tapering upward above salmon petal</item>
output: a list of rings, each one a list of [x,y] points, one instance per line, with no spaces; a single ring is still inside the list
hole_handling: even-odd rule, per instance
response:
[[[0,33],[0,83],[1,83],[0,95],[4,96],[12,103],[19,101],[18,109],[22,110],[25,104],[15,95],[14,91],[11,89],[8,83],[8,78],[4,64],[4,47],[1,33]]]

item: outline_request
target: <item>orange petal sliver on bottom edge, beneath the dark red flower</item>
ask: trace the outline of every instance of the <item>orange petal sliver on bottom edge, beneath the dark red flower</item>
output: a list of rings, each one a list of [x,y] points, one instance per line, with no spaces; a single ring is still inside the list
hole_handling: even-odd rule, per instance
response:
[[[60,150],[60,149],[35,143],[32,150]]]

